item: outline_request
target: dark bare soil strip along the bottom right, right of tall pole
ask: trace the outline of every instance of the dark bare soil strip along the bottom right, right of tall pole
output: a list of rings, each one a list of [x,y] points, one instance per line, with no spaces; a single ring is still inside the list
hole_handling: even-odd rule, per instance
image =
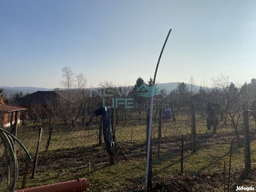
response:
[[[253,182],[252,182],[253,181]],[[230,191],[236,191],[237,186],[255,187],[256,186],[256,170],[250,172],[232,172],[230,174]],[[172,191],[228,191],[228,174],[224,172],[214,172],[201,175],[176,175],[168,177],[159,182],[153,183],[153,192],[172,192]],[[144,191],[145,186],[139,185],[135,191]],[[127,191],[131,191],[127,189]]]

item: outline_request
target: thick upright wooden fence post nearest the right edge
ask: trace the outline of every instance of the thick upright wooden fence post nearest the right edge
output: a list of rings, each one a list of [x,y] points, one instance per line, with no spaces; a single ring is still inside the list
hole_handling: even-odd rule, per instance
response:
[[[251,169],[250,130],[248,104],[243,105],[243,129],[244,129],[244,165],[245,170]]]

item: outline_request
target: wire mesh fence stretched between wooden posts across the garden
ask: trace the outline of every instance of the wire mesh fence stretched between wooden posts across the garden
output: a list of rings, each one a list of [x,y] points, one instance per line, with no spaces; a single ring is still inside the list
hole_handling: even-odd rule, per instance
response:
[[[115,149],[107,150],[108,138],[104,135],[108,130],[104,129],[102,115],[91,121],[88,117],[88,126],[80,120],[75,126],[60,120],[27,121],[20,125],[17,138],[28,149],[33,163],[29,163],[24,150],[15,143],[19,164],[16,190],[144,191],[147,111],[148,108],[110,109]],[[244,136],[246,116],[236,115],[237,125],[234,127],[221,113],[216,114],[215,121],[209,122],[206,107],[191,104],[172,112],[172,118],[168,118],[163,108],[153,110],[150,184],[154,190],[228,191],[228,188],[235,190],[237,186],[255,185],[255,180],[244,181],[241,177],[248,162],[250,169],[254,170],[255,166],[253,116],[248,116],[249,136]],[[244,152],[248,150],[244,138],[250,142],[250,161]],[[6,152],[3,142],[0,152],[0,174],[4,176]],[[8,191],[8,178],[2,178],[0,191]],[[42,189],[36,188],[38,186]]]

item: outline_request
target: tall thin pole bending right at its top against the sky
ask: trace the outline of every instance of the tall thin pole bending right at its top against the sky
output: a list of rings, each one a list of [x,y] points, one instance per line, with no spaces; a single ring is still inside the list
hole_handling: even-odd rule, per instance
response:
[[[151,102],[150,102],[150,117],[149,117],[149,126],[148,126],[148,143],[147,143],[147,166],[146,166],[146,179],[145,179],[145,191],[147,191],[148,189],[148,168],[149,168],[149,159],[150,159],[150,156],[149,154],[150,153],[150,150],[151,150],[151,131],[152,131],[152,114],[153,114],[153,103],[154,103],[154,92],[155,92],[155,83],[156,83],[156,74],[157,74],[157,69],[158,69],[158,66],[159,66],[159,62],[161,60],[161,56],[163,54],[163,51],[164,51],[164,47],[165,47],[165,44],[169,38],[169,35],[171,33],[172,29],[170,29],[168,35],[166,36],[166,40],[164,42],[164,45],[163,45],[163,48],[161,50],[161,53],[160,53],[160,56],[158,58],[158,61],[157,61],[157,65],[156,65],[156,71],[155,71],[155,75],[154,75],[154,80],[153,80],[153,85],[152,85],[152,93],[151,93]],[[152,155],[152,154],[151,154]]]

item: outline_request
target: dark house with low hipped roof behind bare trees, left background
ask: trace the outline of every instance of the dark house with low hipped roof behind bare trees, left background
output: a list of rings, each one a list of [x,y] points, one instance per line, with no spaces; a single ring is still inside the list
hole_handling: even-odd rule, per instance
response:
[[[28,109],[26,118],[30,120],[45,120],[51,116],[60,116],[58,111],[67,104],[70,104],[67,99],[52,91],[38,91],[18,100],[19,107]]]

